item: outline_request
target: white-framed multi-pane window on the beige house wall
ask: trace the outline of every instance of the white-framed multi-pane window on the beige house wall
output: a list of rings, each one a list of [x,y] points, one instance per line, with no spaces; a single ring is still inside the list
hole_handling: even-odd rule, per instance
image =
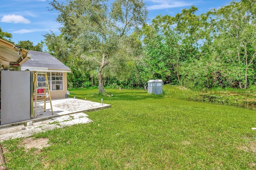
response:
[[[63,90],[63,73],[62,72],[48,72],[48,84],[50,90]]]

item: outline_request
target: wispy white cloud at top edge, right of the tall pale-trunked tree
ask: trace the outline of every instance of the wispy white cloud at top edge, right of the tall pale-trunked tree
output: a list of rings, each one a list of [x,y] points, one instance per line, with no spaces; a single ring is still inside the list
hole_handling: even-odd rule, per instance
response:
[[[154,2],[156,4],[148,6],[148,10],[161,10],[161,9],[169,9],[169,8],[177,8],[184,6],[191,6],[192,3],[176,1],[176,2],[168,2],[166,0],[149,0],[150,2]]]

